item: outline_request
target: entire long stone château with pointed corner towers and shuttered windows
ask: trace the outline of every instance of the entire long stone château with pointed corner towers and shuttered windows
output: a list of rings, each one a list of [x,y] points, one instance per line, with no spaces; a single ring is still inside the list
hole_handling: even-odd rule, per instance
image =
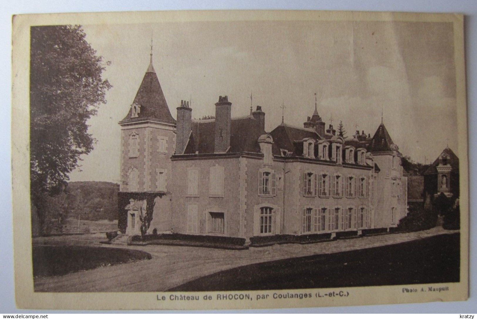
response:
[[[148,233],[247,243],[264,236],[360,235],[396,227],[406,215],[402,154],[382,119],[373,135],[356,131],[345,140],[331,124],[326,128],[316,102],[303,127],[282,119],[270,132],[260,106],[231,118],[233,101],[225,95],[215,107],[215,119],[193,120],[182,100],[175,120],[151,55],[119,122],[119,228],[125,234],[141,234],[147,205],[153,205]]]

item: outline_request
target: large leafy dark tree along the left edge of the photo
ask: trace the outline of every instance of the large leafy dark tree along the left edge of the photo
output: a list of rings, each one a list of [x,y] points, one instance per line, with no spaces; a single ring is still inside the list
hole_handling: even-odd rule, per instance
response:
[[[64,189],[81,156],[95,139],[87,120],[105,103],[111,88],[106,65],[81,26],[32,27],[30,57],[31,201],[40,223],[44,197]]]

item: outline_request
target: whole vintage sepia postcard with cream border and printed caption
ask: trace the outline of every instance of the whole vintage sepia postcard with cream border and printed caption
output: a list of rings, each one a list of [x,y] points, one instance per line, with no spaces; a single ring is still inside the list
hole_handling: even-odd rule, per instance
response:
[[[17,306],[467,299],[463,22],[15,16]]]

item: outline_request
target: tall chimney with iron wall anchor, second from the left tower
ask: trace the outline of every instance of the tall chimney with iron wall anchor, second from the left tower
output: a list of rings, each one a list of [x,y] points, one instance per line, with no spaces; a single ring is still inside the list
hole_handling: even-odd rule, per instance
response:
[[[215,103],[215,144],[214,153],[225,153],[230,147],[230,112],[232,103],[228,97],[219,96]]]

